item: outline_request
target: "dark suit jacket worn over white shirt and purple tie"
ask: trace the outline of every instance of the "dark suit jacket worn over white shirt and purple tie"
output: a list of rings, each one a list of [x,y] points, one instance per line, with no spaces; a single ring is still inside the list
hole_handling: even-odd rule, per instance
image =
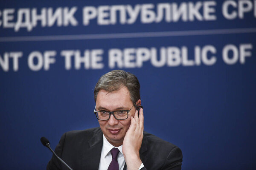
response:
[[[141,170],[180,170],[180,148],[154,135],[144,132],[140,148]],[[103,133],[99,127],[64,133],[55,153],[73,170],[98,170],[103,145]],[[124,167],[126,170],[126,165]],[[47,164],[47,170],[68,170],[55,156]]]

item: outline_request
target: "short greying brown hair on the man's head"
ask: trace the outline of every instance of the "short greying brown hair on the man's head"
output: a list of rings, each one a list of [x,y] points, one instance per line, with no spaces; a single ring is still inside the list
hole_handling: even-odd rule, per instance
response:
[[[134,74],[123,70],[113,70],[102,77],[96,83],[94,88],[94,100],[96,102],[97,95],[100,90],[108,92],[119,90],[126,87],[130,93],[131,101],[135,103],[140,99],[140,82]]]

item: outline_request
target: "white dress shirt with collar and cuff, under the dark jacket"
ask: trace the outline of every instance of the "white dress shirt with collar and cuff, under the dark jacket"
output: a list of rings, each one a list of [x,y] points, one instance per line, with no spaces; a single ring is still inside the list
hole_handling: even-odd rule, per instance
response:
[[[108,142],[106,137],[103,135],[103,146],[102,146],[102,153],[100,156],[100,161],[99,161],[99,170],[108,170],[108,166],[112,161],[112,155],[111,155],[111,149],[113,149],[113,145]],[[125,167],[125,157],[122,153],[122,145],[119,147],[114,147],[119,150],[118,156],[117,156],[117,161],[119,165],[119,170],[123,170]],[[143,163],[140,165],[139,170],[144,167]]]

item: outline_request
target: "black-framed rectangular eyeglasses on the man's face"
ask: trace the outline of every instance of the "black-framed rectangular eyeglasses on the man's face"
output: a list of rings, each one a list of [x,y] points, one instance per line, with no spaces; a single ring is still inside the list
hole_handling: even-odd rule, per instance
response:
[[[94,113],[95,113],[98,120],[108,120],[110,118],[111,114],[117,120],[124,120],[124,119],[128,118],[128,113],[130,111],[131,111],[131,109],[130,110],[112,111],[112,112],[110,112],[110,111],[96,111],[96,106],[94,108]]]

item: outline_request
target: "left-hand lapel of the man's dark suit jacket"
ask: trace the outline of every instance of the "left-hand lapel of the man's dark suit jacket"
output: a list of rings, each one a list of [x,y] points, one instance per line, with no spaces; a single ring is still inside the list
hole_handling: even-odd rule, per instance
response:
[[[103,133],[99,129],[81,148],[82,170],[98,170],[103,145]]]

